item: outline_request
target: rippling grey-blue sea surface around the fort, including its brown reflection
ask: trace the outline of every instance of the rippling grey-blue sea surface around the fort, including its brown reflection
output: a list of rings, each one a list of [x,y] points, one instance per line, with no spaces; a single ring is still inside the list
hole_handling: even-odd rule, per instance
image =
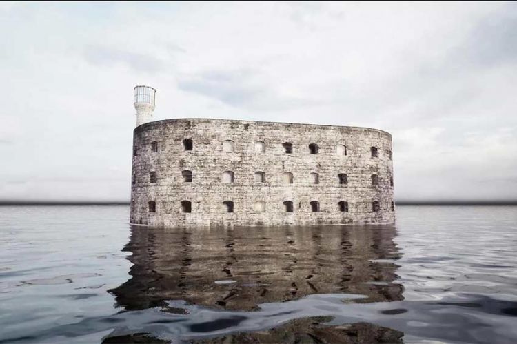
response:
[[[0,207],[0,343],[517,343],[517,207],[152,230]]]

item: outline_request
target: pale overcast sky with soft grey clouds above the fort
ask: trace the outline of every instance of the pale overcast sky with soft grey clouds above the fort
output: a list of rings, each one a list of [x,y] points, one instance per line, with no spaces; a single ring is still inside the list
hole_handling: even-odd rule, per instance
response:
[[[517,3],[0,3],[0,201],[129,201],[155,119],[378,128],[397,201],[517,199]]]

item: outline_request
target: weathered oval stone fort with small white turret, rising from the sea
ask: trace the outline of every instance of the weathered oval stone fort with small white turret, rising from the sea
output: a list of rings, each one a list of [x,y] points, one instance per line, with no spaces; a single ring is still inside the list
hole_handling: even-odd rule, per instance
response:
[[[389,133],[226,119],[153,121],[156,90],[134,90],[131,223],[394,223]]]

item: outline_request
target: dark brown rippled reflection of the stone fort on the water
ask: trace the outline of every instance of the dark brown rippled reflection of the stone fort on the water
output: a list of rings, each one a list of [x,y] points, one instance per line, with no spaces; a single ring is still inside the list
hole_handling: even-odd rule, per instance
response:
[[[225,310],[256,310],[261,303],[301,299],[310,294],[361,294],[366,298],[353,302],[362,303],[399,301],[403,299],[403,287],[394,283],[397,265],[377,261],[400,258],[393,241],[395,235],[393,226],[381,225],[199,229],[135,226],[124,247],[132,253],[128,256],[134,264],[132,277],[110,292],[125,310],[161,307],[174,313],[181,313],[181,309],[168,308],[166,301],[184,300]],[[275,341],[280,340],[278,336],[296,332],[294,327],[301,327],[309,334],[307,338],[314,339],[319,323],[314,318],[300,319],[246,336],[254,340],[265,336],[262,341]],[[346,336],[358,343],[383,341],[382,338],[398,341],[403,335],[368,323],[345,329],[325,327],[323,337],[330,336],[330,342],[341,338],[347,343]],[[316,342],[325,342],[323,337],[318,335]]]

